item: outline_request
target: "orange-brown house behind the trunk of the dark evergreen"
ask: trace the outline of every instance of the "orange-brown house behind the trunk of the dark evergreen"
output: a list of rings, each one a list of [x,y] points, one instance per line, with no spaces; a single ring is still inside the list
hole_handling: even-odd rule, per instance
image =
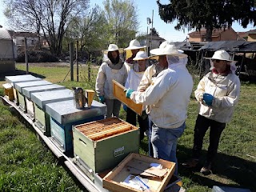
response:
[[[232,27],[230,29],[214,29],[212,31],[212,42],[218,41],[239,41],[243,40],[237,32],[233,30]],[[194,31],[189,34],[190,42],[206,42],[206,29],[202,28],[200,31]]]

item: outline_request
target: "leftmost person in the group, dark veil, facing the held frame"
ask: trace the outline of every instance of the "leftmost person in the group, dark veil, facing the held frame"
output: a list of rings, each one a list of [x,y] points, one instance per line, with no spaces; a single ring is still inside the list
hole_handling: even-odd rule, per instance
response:
[[[98,69],[95,90],[99,101],[106,103],[106,118],[112,116],[118,118],[121,102],[114,98],[112,80],[114,79],[124,86],[127,78],[127,70],[126,66],[123,65],[122,59],[120,59],[117,45],[110,44],[106,52],[107,57]]]

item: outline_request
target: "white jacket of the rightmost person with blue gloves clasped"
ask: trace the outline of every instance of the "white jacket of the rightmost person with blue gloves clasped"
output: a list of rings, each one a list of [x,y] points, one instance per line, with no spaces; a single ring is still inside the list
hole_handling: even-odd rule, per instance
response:
[[[204,93],[214,96],[212,106],[202,103]],[[194,95],[199,102],[199,114],[217,122],[230,122],[240,95],[240,80],[233,73],[222,76],[210,72],[198,83]]]

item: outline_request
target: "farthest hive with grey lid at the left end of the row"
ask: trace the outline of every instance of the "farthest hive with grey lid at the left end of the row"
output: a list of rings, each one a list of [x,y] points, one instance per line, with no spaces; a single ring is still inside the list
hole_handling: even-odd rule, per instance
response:
[[[10,83],[13,86],[14,90],[14,102],[18,105],[18,91],[14,88],[14,85],[18,82],[31,82],[31,81],[40,81],[42,78],[36,78],[31,74],[15,75],[15,76],[6,76],[6,82]]]

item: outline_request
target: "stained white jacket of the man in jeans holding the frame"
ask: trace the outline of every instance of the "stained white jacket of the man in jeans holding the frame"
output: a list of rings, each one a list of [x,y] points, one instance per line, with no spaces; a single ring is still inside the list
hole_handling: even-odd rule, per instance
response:
[[[150,119],[161,128],[178,128],[186,121],[193,80],[186,66],[170,65],[162,70],[145,92],[134,91],[130,98],[151,105]]]

